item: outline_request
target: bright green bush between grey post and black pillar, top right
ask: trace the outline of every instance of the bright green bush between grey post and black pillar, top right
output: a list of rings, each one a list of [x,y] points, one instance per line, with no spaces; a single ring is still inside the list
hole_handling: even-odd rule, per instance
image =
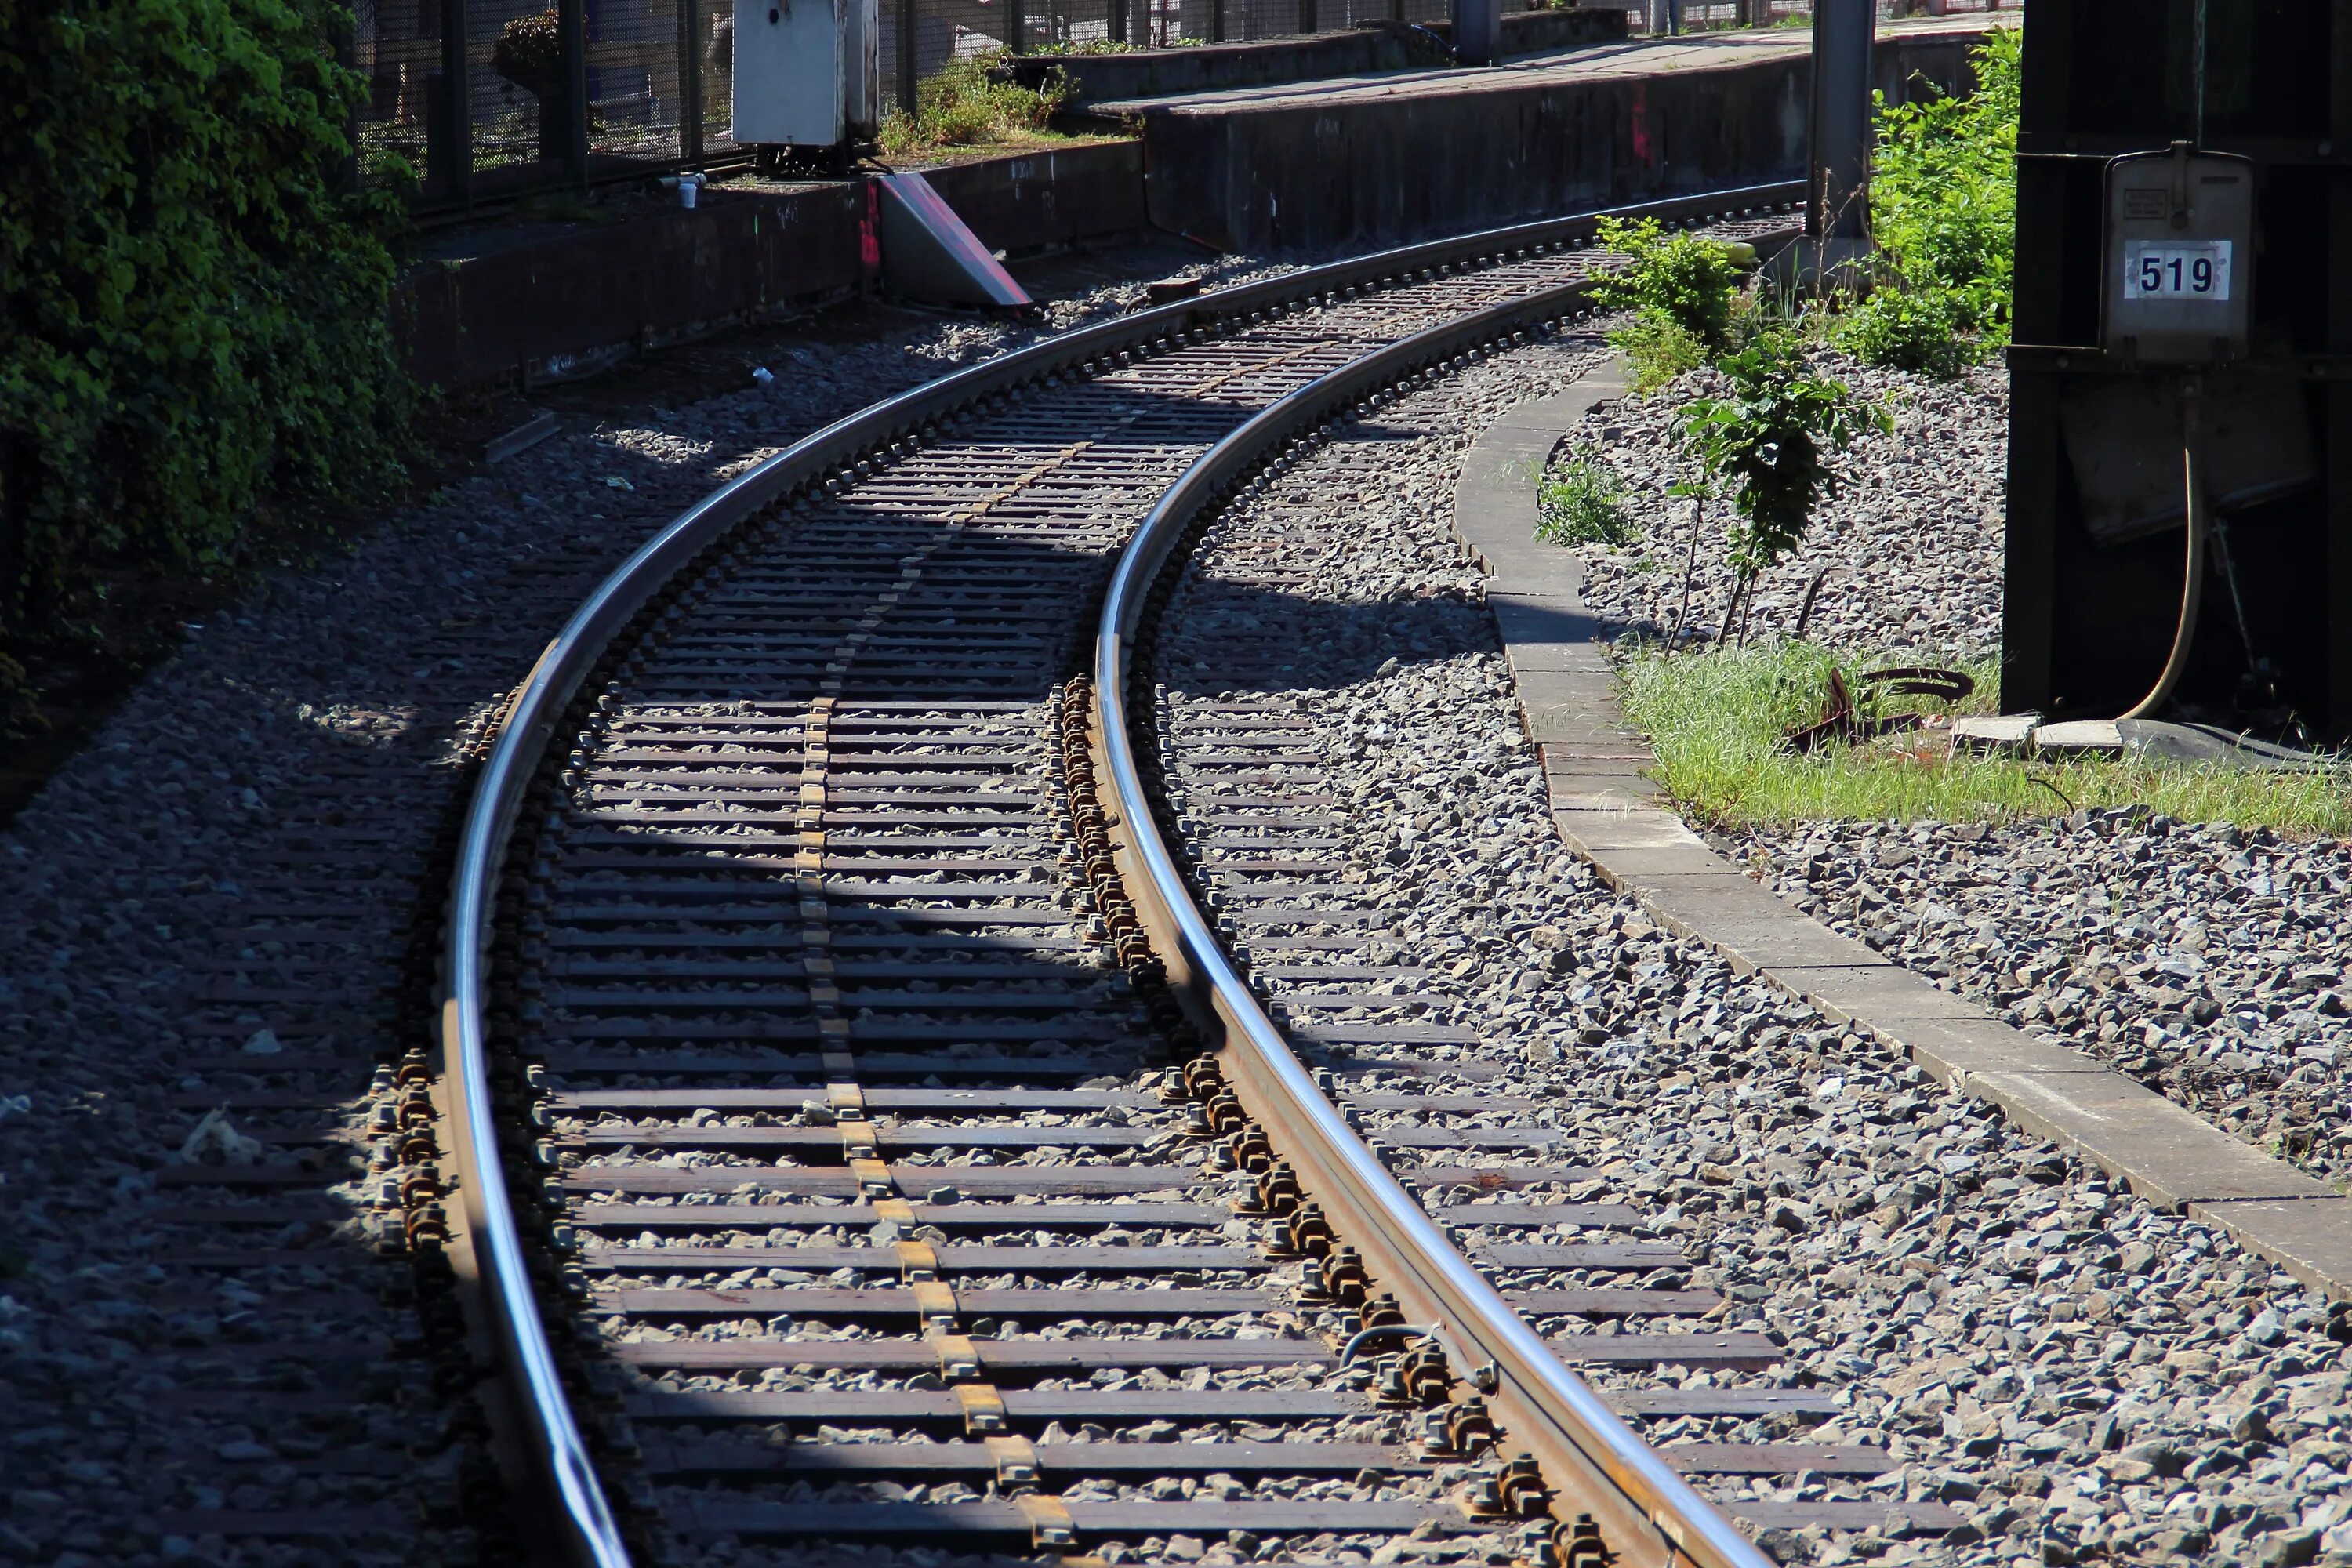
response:
[[[1966,99],[1879,94],[1870,233],[1910,292],[1950,294],[1957,320],[1999,339],[2016,270],[2018,31],[1994,31],[1971,59]]]

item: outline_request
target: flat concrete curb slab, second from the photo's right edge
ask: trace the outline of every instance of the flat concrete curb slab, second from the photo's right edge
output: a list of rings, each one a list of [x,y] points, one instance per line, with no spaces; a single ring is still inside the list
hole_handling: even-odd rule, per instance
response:
[[[2333,1197],[2284,1159],[2239,1143],[2119,1072],[1978,1072],[1966,1091],[2159,1208]]]

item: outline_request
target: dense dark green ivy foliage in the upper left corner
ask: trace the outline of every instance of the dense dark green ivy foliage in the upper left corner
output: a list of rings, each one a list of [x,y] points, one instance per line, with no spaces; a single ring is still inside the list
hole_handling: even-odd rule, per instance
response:
[[[336,195],[334,0],[0,0],[0,635],[397,477],[405,167]],[[0,670],[0,675],[7,675]]]

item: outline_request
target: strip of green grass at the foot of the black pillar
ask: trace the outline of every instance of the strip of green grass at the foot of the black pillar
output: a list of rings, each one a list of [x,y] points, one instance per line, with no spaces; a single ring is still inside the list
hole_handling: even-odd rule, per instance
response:
[[[1717,827],[1806,820],[2011,823],[2074,809],[2147,806],[2183,823],[2237,823],[2296,835],[2352,830],[2352,766],[2249,771],[2161,762],[1947,757],[1933,731],[1792,752],[1783,736],[1820,717],[1830,668],[1851,677],[1893,663],[1943,663],[1976,677],[1957,712],[1992,712],[1990,656],[1891,654],[1856,661],[1811,642],[1665,658],[1625,651],[1625,717],[1651,736],[1675,804]],[[1940,712],[1889,698],[1886,712]]]

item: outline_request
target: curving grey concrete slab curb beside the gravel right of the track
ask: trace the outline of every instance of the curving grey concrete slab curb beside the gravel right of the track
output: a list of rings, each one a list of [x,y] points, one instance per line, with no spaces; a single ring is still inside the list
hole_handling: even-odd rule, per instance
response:
[[[1618,712],[1604,651],[1611,628],[1585,609],[1583,567],[1536,541],[1545,458],[1564,430],[1623,393],[1611,367],[1522,402],[1470,447],[1454,489],[1454,531],[1489,571],[1486,599],[1569,846],[1677,936],[1832,1023],[1867,1030],[1947,1088],[1990,1100],[2150,1204],[2218,1225],[2305,1286],[2352,1300],[2352,1199],[1797,912],[1661,804],[1644,771],[1656,755]]]

